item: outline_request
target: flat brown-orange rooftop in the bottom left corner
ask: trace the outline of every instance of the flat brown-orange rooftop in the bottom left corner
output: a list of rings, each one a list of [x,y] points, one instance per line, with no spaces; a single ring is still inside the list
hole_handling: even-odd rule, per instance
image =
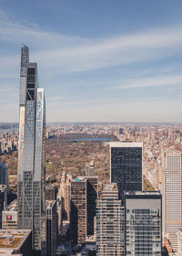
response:
[[[31,230],[25,229],[0,229],[0,251],[19,248],[30,233]]]

